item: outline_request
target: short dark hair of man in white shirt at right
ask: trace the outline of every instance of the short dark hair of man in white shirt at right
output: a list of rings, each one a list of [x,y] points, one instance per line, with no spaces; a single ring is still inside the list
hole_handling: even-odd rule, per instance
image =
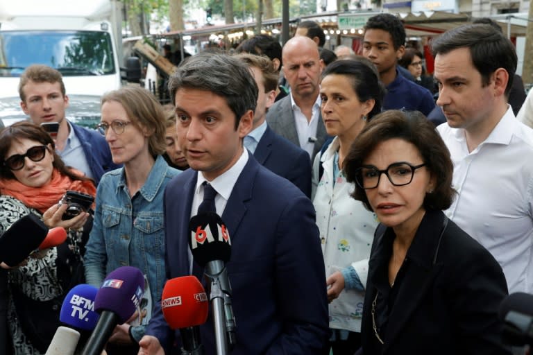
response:
[[[505,69],[509,74],[505,95],[509,96],[518,57],[514,45],[501,31],[489,24],[468,24],[446,31],[431,44],[433,56],[459,48],[470,50],[473,65],[481,74],[483,86],[489,85],[496,69]]]

